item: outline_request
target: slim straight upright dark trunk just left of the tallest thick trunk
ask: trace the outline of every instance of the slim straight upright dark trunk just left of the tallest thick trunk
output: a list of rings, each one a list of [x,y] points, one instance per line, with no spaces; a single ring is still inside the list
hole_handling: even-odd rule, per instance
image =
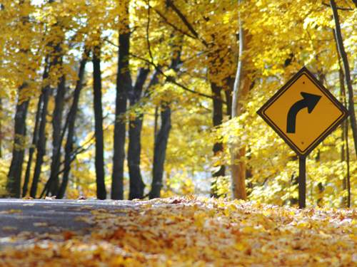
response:
[[[101,46],[93,51],[94,120],[96,136],[96,197],[106,199],[104,183],[103,110],[101,106]]]

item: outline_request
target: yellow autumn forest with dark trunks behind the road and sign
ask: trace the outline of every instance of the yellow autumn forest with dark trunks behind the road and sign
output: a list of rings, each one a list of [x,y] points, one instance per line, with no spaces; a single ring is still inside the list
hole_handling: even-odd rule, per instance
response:
[[[0,193],[297,204],[298,158],[256,111],[306,66],[351,112],[306,204],[356,204],[356,25],[355,0],[3,0]]]

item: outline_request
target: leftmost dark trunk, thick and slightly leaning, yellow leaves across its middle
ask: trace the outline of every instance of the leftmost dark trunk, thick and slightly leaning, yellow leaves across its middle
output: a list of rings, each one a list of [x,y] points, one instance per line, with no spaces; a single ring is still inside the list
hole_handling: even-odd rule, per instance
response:
[[[25,87],[26,85],[21,85],[21,88],[19,89],[19,98],[21,97],[21,90]],[[16,198],[21,197],[22,164],[24,162],[24,137],[26,135],[26,115],[28,108],[29,100],[26,100],[16,106],[14,149],[6,181],[6,190],[9,192],[11,197]]]

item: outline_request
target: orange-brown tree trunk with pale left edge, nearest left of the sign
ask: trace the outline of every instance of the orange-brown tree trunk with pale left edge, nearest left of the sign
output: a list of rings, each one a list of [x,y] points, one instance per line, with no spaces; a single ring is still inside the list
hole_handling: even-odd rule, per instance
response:
[[[248,31],[239,28],[239,61],[236,80],[233,88],[232,118],[239,117],[244,112],[240,103],[248,95],[251,80],[248,78],[247,65],[251,59],[243,55],[251,35]],[[246,155],[246,147],[233,147],[231,149],[231,194],[232,199],[246,200],[246,162],[242,159]]]

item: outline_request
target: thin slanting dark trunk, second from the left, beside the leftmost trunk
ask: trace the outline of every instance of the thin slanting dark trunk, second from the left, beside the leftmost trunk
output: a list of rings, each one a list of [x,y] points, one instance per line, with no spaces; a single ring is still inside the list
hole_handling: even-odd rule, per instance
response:
[[[39,122],[40,122],[41,109],[42,109],[42,103],[43,102],[44,102],[44,95],[41,94],[40,97],[39,97],[39,103],[37,104],[36,120],[35,120],[35,126],[34,126],[34,136],[32,137],[32,145],[31,145],[30,150],[29,150],[29,161],[27,162],[25,179],[24,179],[24,186],[22,187],[22,197],[26,197],[26,194],[27,194],[27,191],[28,191],[28,187],[29,187],[31,164],[32,164],[32,159],[34,157],[35,147],[36,147],[37,142],[38,142]]]

